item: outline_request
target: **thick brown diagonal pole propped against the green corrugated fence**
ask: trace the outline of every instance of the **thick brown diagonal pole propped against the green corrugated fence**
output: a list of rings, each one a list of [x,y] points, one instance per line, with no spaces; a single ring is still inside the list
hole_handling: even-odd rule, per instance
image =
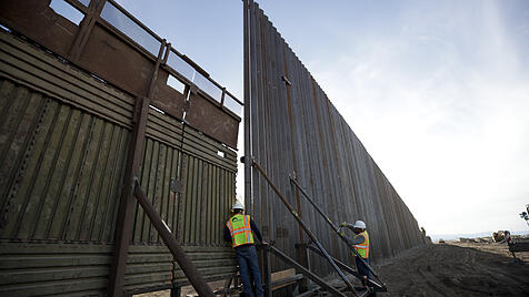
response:
[[[191,259],[188,257],[186,252],[183,252],[180,244],[178,244],[169,227],[163,223],[160,215],[154,211],[152,204],[147,199],[138,178],[134,178],[134,196],[199,296],[214,296],[213,290],[209,287],[202,276],[200,276],[197,267],[194,267]]]

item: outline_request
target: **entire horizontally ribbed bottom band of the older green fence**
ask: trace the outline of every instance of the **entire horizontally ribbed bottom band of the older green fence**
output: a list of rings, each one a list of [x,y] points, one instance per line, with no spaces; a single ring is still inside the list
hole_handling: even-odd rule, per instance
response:
[[[64,243],[2,243],[1,296],[102,296],[113,245]],[[237,268],[231,247],[184,247],[200,274],[209,279]],[[166,246],[132,245],[126,288],[184,284],[186,276]]]

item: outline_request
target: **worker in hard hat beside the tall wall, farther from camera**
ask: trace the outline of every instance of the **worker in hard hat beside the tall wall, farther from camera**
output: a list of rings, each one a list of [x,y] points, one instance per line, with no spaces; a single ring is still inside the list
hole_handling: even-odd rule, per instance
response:
[[[357,221],[355,225],[342,223],[342,227],[348,227],[355,232],[356,236],[352,238],[352,245],[358,255],[369,264],[369,234],[366,231],[366,223]],[[370,278],[369,268],[355,255],[355,263],[357,264],[358,273],[363,277],[362,283],[367,286],[367,280]]]

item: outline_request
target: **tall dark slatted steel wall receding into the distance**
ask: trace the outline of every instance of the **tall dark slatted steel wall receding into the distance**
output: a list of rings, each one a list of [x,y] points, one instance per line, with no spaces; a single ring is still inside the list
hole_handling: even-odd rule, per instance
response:
[[[289,176],[333,222],[365,221],[373,260],[425,244],[417,221],[310,72],[259,6],[249,1],[244,7],[244,112],[250,119],[246,154],[256,157],[329,254],[342,262],[352,262],[350,250],[303,203]],[[251,181],[246,192],[248,209],[264,237],[276,239],[278,248],[295,257],[295,244],[306,240],[298,224],[262,176],[253,171],[246,178],[247,184]],[[310,262],[323,275],[331,272],[315,256]],[[278,262],[272,267],[286,268]]]

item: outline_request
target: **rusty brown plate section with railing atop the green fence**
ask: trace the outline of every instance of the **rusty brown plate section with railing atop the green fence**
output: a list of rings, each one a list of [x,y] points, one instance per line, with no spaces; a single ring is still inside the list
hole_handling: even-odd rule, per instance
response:
[[[154,88],[151,98],[154,106],[179,120],[186,120],[214,140],[237,147],[241,120],[238,110],[242,103],[199,65],[170,44],[163,45],[163,57],[168,58],[162,62],[164,70],[151,84],[158,50],[163,44],[160,37],[112,0],[93,0],[88,7],[77,1],[63,4],[71,6],[83,16],[79,25],[53,11],[46,0],[1,0],[0,23],[133,98],[146,98],[149,90]],[[186,94],[167,85],[168,72],[186,85]],[[200,95],[191,95],[191,100],[186,103],[184,99],[191,89],[196,89]],[[224,93],[229,94],[226,102],[221,100]],[[184,111],[188,119],[184,119]]]

